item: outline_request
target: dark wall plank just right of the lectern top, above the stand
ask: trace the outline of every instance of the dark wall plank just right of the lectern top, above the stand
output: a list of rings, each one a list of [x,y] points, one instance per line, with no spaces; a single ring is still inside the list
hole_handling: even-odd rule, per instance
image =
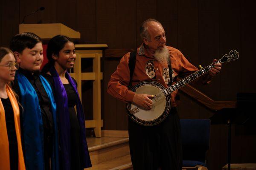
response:
[[[96,44],[96,0],[76,0],[76,31],[79,44]]]

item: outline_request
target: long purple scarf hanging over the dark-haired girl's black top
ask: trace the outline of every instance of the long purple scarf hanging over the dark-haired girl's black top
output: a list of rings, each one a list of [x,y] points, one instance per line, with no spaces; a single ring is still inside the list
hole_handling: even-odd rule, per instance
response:
[[[58,127],[59,127],[59,143],[61,146],[61,154],[60,161],[63,167],[63,170],[70,170],[71,167],[71,151],[70,151],[70,117],[68,111],[68,100],[67,93],[64,88],[64,85],[61,82],[61,79],[55,70],[52,67],[50,70],[52,78],[54,80],[54,88],[55,88],[55,101],[57,104],[57,115],[58,115]],[[79,94],[76,87],[76,82],[70,77],[70,74],[66,72],[66,78],[72,85],[74,91],[76,92],[76,111],[77,117],[80,126],[80,136],[81,136],[81,155],[82,155],[82,167],[87,168],[91,167],[91,161],[88,151],[88,146],[85,138],[85,122],[84,122],[84,111],[82,108],[82,104],[79,98]]]

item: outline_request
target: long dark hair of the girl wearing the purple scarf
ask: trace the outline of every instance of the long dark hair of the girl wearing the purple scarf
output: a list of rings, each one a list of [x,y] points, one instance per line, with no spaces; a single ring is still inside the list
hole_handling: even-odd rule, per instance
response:
[[[65,35],[56,35],[49,41],[46,50],[48,62],[46,65],[44,65],[42,73],[47,73],[54,65],[55,60],[52,58],[52,55],[58,56],[59,52],[62,48],[64,48],[67,42],[73,42],[73,40]]]

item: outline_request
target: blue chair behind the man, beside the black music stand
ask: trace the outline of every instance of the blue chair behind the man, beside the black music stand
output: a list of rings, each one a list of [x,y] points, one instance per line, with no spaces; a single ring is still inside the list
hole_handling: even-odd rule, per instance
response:
[[[183,170],[207,170],[206,152],[209,149],[209,119],[181,119]]]

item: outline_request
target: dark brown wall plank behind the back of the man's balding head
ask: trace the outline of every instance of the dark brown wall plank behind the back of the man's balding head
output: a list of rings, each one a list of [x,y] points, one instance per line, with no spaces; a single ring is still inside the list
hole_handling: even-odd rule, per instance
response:
[[[140,38],[140,27],[144,20],[157,18],[157,0],[137,0],[136,1],[136,46],[143,42]]]

